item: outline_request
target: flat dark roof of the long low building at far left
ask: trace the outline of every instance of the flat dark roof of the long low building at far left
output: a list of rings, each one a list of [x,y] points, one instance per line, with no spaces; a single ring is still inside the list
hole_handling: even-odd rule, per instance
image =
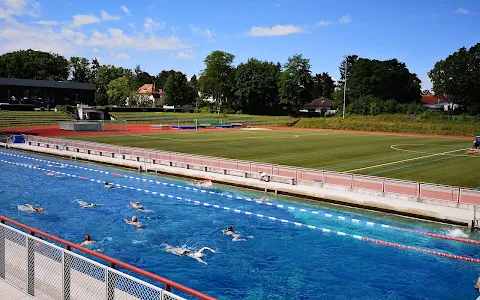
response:
[[[71,89],[71,90],[89,90],[89,91],[95,91],[97,89],[97,86],[95,84],[90,84],[90,83],[4,78],[4,77],[0,77],[0,86],[1,85]]]

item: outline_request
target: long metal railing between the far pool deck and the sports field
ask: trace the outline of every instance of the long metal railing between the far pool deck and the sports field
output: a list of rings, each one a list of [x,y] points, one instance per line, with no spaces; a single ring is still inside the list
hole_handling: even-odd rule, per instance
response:
[[[349,188],[354,190],[373,191],[379,195],[399,195],[417,199],[434,199],[455,202],[457,204],[480,204],[480,191],[457,186],[447,186],[384,177],[375,177],[344,172],[298,168],[267,163],[249,162],[211,156],[193,155],[161,150],[148,150],[134,147],[121,147],[103,143],[82,142],[71,139],[26,136],[26,142],[44,147],[57,147],[67,151],[119,157],[127,160],[144,162],[150,165],[172,165],[171,162],[183,165],[197,165],[217,170],[233,170],[243,173],[266,172],[273,181],[284,182],[292,179],[294,184],[324,186],[333,189]],[[231,173],[231,172],[230,172]],[[258,175],[258,174],[257,174]],[[247,174],[245,175],[247,176]],[[287,180],[288,182],[288,180]]]

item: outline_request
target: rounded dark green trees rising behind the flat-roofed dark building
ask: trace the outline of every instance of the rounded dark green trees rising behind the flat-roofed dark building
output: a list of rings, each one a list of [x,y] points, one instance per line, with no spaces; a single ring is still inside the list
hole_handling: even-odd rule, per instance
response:
[[[0,56],[0,76],[35,80],[67,80],[69,64],[54,53],[20,50]]]

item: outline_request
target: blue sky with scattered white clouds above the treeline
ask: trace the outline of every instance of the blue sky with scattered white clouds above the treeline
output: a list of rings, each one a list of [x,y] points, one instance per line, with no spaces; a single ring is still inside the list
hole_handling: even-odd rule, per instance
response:
[[[342,56],[398,58],[430,88],[436,61],[479,40],[478,0],[0,0],[0,53],[52,51],[156,75],[199,74],[213,50],[339,77]]]

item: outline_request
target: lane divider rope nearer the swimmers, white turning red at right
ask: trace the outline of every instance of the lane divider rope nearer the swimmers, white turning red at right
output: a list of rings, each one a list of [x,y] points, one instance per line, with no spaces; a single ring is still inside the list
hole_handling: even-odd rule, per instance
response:
[[[47,171],[47,172],[52,172],[52,173],[56,173],[56,174],[62,174],[62,175],[66,175],[68,177],[80,178],[80,179],[87,180],[87,181],[90,181],[90,182],[103,183],[102,180],[98,180],[98,179],[94,179],[94,178],[87,178],[87,177],[83,177],[83,176],[77,176],[77,175],[74,175],[74,174],[70,174],[70,173],[66,173],[66,172],[58,172],[58,171],[55,171],[55,170],[49,170],[49,169],[45,169],[45,168],[39,168],[39,167],[28,165],[28,164],[10,162],[10,161],[6,161],[6,160],[3,160],[3,159],[1,159],[0,162],[4,162],[4,163],[11,164],[11,165],[16,165],[16,166],[22,166],[22,167],[26,167],[26,168],[30,168],[30,169],[36,169],[36,170]],[[112,183],[112,184],[114,184],[114,183]],[[149,190],[146,190],[146,189],[135,188],[133,186],[125,186],[125,185],[120,185],[120,184],[114,184],[114,185],[117,186],[117,187],[121,186],[121,187],[124,187],[124,188],[129,188],[131,190],[137,190],[139,192],[158,195],[160,197],[166,197],[166,198],[171,198],[171,199],[176,199],[176,200],[183,200],[183,201],[186,201],[186,202],[189,202],[189,203],[193,203],[194,205],[197,205],[197,206],[213,207],[213,208],[217,208],[217,209],[225,210],[225,211],[230,211],[230,212],[233,211],[234,213],[237,213],[237,214],[244,214],[244,215],[247,215],[247,216],[255,216],[257,218],[267,219],[267,220],[271,220],[271,221],[277,221],[277,222],[285,223],[285,224],[287,224],[287,223],[288,224],[293,224],[296,227],[308,228],[308,229],[312,229],[312,230],[321,231],[323,233],[331,233],[331,234],[335,234],[335,235],[338,235],[338,236],[351,237],[351,238],[354,238],[356,240],[369,242],[369,243],[373,243],[373,244],[377,244],[377,245],[388,246],[388,247],[399,248],[399,249],[405,249],[405,250],[410,250],[410,251],[416,251],[416,252],[421,252],[421,253],[426,253],[426,254],[431,254],[431,255],[436,255],[436,256],[440,256],[440,257],[456,259],[456,260],[463,260],[463,261],[468,261],[468,262],[480,263],[480,259],[477,259],[477,258],[454,255],[454,254],[449,254],[449,253],[445,253],[445,252],[439,252],[439,251],[434,251],[434,250],[428,250],[428,249],[423,249],[423,248],[407,246],[407,245],[403,245],[403,244],[387,242],[387,241],[378,240],[378,239],[372,239],[372,238],[369,238],[369,237],[355,235],[355,234],[351,234],[351,233],[347,233],[347,232],[336,231],[336,230],[332,230],[332,229],[328,229],[328,228],[322,228],[322,227],[308,225],[308,224],[304,224],[304,223],[300,223],[300,222],[294,222],[294,221],[289,221],[289,220],[286,220],[286,219],[276,218],[276,217],[272,217],[272,216],[266,216],[266,215],[263,215],[263,214],[257,214],[257,213],[253,213],[253,212],[250,212],[250,211],[242,211],[240,209],[234,209],[234,208],[230,208],[230,207],[227,207],[227,206],[220,206],[220,205],[211,204],[211,203],[208,203],[208,202],[195,201],[195,200],[191,200],[189,198],[176,197],[174,195],[167,195],[167,194],[158,193],[158,192],[155,192],[155,191],[149,191]]]

